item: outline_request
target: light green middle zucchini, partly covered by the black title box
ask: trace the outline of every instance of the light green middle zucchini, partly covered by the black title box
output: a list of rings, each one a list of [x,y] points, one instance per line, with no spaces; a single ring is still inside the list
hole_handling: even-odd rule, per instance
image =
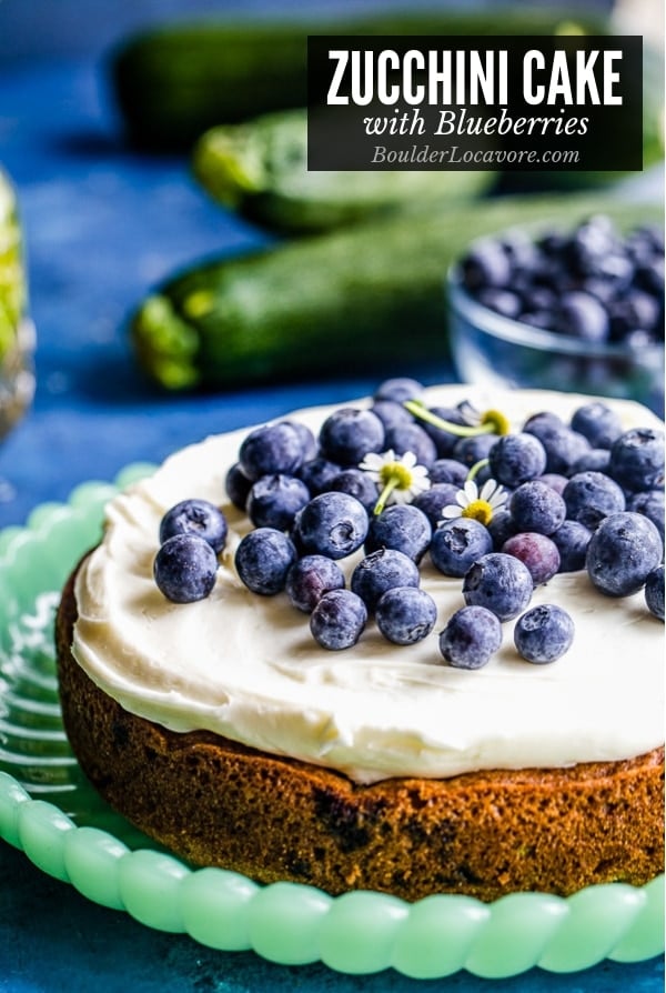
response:
[[[194,175],[220,203],[280,231],[325,231],[405,210],[468,200],[492,172],[309,172],[307,112],[276,111],[213,128],[194,146]]]

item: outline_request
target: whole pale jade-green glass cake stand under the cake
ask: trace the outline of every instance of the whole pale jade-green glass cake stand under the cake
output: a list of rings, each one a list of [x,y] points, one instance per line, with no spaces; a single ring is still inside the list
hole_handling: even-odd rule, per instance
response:
[[[514,893],[484,904],[438,894],[414,904],[356,891],[332,897],[295,883],[262,886],[235,872],[191,869],[107,806],[62,729],[53,615],[78,559],[97,543],[104,503],[152,471],[128,467],[67,503],[42,504],[0,532],[0,837],[84,897],[160,931],[282,965],[323,962],[347,974],[392,967],[412,979],[461,970],[484,979],[539,966],[571,973],[605,959],[664,952],[664,877],[563,899]]]

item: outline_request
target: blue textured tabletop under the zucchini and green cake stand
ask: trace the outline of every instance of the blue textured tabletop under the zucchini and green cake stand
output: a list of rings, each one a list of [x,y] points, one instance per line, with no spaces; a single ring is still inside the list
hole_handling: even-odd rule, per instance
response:
[[[168,398],[137,373],[123,322],[147,288],[212,251],[265,240],[214,208],[178,160],[124,151],[99,66],[0,69],[0,160],[20,195],[38,327],[34,407],[0,448],[0,526],[88,479],[163,458],[210,431],[293,407],[344,400],[373,383],[275,387],[223,397]],[[442,379],[448,370],[430,370]],[[655,993],[660,961],[604,963],[558,976],[534,970],[490,983],[467,974],[417,983],[395,973],[347,977],[324,966],[282,967],[224,954],[95,906],[0,843],[0,991],[387,991]]]

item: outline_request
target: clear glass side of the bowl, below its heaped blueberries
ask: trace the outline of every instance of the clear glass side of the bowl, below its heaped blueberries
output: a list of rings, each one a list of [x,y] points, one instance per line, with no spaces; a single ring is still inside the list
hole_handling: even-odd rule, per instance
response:
[[[664,412],[664,345],[591,344],[480,303],[453,267],[446,303],[453,361],[464,382],[637,400]]]

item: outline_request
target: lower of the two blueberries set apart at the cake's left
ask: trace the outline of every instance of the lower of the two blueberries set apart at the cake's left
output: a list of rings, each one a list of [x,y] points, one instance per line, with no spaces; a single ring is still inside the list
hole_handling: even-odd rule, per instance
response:
[[[153,562],[158,589],[173,603],[193,603],[205,599],[215,585],[218,556],[199,534],[181,533],[168,538]]]

